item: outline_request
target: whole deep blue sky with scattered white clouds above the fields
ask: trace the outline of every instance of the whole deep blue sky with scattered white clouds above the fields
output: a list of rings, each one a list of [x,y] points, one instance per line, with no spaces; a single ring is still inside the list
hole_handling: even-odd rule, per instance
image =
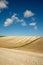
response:
[[[43,36],[43,0],[0,0],[0,35]]]

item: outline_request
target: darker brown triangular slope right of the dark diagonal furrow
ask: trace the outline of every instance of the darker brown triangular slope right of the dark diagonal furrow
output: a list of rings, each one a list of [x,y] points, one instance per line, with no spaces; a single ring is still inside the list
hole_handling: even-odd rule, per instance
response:
[[[16,49],[43,53],[43,37]]]

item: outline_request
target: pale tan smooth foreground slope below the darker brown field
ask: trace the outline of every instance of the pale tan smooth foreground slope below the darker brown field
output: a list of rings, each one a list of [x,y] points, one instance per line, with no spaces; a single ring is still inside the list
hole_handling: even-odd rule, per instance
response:
[[[43,65],[43,54],[0,48],[0,65]]]

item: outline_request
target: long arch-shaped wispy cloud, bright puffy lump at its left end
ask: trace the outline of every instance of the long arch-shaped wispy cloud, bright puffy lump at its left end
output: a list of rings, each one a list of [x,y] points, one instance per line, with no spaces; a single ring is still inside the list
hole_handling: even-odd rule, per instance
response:
[[[25,21],[23,20],[23,19],[19,19],[18,17],[17,17],[17,14],[13,14],[12,16],[11,16],[11,18],[7,18],[6,20],[5,20],[5,22],[4,22],[4,26],[9,26],[10,24],[12,24],[13,22],[20,22],[21,23],[21,25],[22,26],[25,26],[26,24],[25,24]]]

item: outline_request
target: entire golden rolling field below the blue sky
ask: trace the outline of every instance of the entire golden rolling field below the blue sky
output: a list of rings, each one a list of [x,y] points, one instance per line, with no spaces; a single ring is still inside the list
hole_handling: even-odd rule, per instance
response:
[[[0,65],[43,65],[43,37],[0,37]]]

